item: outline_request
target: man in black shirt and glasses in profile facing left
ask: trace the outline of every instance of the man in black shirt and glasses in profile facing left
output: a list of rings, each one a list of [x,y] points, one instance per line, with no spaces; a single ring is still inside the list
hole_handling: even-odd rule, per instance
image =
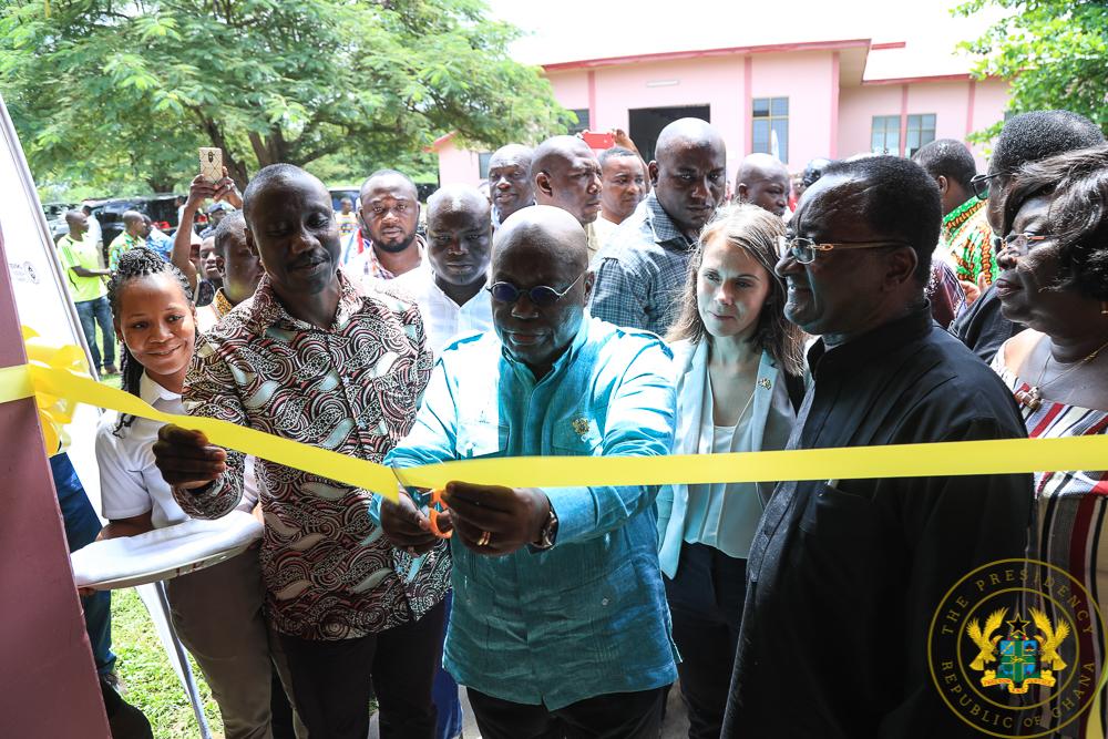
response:
[[[790,449],[1025,435],[999,378],[931,318],[941,223],[917,164],[829,166],[777,265],[786,315],[821,335]],[[977,737],[927,665],[943,595],[1024,554],[1026,475],[781,482],[759,523],[724,737]]]

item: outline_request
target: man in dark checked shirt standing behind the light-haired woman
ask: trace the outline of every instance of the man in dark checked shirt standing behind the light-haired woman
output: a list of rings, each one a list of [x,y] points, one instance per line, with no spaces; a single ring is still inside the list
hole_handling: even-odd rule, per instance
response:
[[[724,138],[699,119],[674,121],[650,162],[654,192],[596,255],[593,316],[663,336],[688,281],[697,235],[724,201]]]

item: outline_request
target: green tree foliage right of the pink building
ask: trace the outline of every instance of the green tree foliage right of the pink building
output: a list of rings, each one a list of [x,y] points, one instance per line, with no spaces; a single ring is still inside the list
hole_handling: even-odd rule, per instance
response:
[[[1010,80],[1008,110],[1069,110],[1108,132],[1108,2],[970,0],[954,12],[972,16],[989,6],[1007,14],[961,48],[982,57],[977,75]],[[1002,125],[978,137],[994,137]]]

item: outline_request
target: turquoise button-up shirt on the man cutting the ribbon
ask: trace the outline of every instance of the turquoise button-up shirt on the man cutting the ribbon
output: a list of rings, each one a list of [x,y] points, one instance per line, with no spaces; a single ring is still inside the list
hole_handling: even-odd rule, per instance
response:
[[[386,463],[667,454],[671,357],[657,337],[586,318],[536,382],[494,333],[459,339]],[[558,517],[552,548],[488,557],[451,540],[447,669],[486,695],[551,710],[669,685],[677,668],[658,569],[657,486],[545,492]]]

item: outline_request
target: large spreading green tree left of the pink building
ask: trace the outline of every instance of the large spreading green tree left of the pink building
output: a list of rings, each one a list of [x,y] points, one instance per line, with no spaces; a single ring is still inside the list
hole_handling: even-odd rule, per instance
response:
[[[0,94],[40,179],[170,189],[218,146],[242,185],[275,162],[350,172],[438,135],[533,141],[572,113],[482,0],[0,3]],[[332,168],[332,167],[328,167]]]

